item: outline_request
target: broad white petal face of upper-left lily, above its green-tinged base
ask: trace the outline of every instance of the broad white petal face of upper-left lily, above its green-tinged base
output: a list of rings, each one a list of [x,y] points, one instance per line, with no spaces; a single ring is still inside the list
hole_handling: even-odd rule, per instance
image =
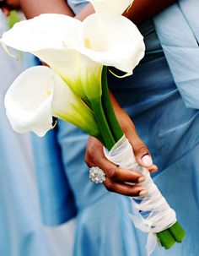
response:
[[[33,52],[46,48],[63,48],[65,41],[79,41],[82,23],[62,14],[41,14],[21,21],[3,33],[0,40],[19,51]]]

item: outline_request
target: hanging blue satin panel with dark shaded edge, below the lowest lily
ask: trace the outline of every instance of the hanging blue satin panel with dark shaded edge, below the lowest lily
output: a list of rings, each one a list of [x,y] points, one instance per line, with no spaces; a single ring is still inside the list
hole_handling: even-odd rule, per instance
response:
[[[41,216],[45,225],[55,226],[70,220],[77,212],[73,192],[64,172],[56,129],[42,139],[32,135],[32,144]],[[40,157],[42,161],[39,161]]]

